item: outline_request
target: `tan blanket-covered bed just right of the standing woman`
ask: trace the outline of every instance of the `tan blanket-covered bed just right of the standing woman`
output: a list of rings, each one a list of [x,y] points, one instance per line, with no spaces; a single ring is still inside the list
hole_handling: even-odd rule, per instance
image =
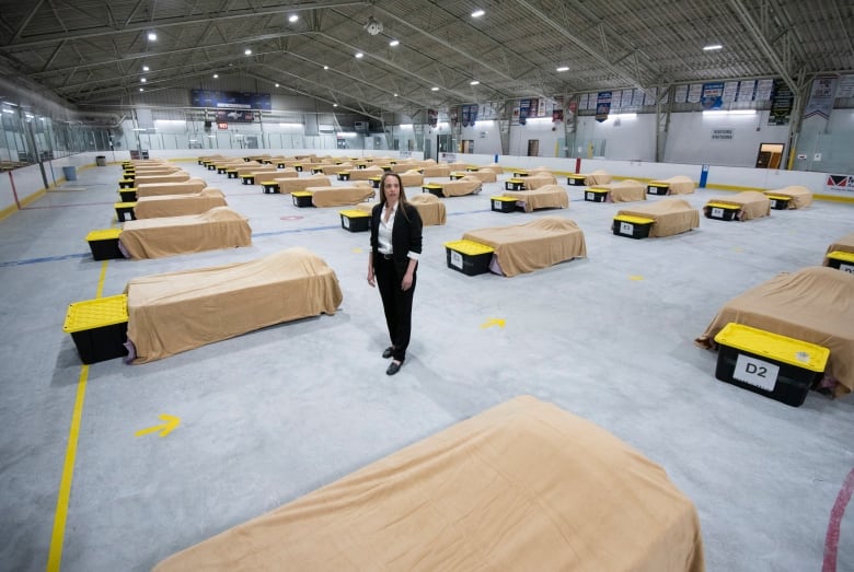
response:
[[[463,240],[495,249],[489,270],[516,276],[540,268],[587,257],[585,234],[569,219],[543,217],[512,226],[496,226],[466,232]]]

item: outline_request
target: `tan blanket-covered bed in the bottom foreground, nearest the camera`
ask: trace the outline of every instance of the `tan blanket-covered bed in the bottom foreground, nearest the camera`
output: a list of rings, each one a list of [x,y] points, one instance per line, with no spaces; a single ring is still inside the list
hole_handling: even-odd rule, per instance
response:
[[[660,465],[590,421],[520,396],[154,572],[704,569],[696,509]]]

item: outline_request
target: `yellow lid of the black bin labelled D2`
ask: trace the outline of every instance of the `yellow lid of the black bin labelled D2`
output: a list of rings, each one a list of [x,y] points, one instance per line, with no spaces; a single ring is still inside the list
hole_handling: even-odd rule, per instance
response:
[[[749,351],[771,360],[796,365],[812,372],[823,372],[830,350],[810,343],[773,334],[743,324],[730,322],[717,332],[715,341],[741,351]]]

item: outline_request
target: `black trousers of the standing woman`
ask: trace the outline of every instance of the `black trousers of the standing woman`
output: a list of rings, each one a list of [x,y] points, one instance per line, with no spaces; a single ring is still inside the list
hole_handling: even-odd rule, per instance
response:
[[[405,267],[404,267],[405,272]],[[403,273],[394,260],[382,254],[373,255],[373,275],[382,297],[382,308],[385,312],[385,325],[389,327],[389,338],[394,346],[392,357],[397,361],[406,359],[406,348],[409,347],[412,334],[412,300],[415,293],[415,282],[418,272],[412,277],[412,288],[405,292],[401,288]]]

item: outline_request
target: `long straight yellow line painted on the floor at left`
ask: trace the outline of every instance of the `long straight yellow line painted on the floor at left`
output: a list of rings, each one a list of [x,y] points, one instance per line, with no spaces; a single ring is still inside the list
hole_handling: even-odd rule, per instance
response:
[[[107,260],[101,265],[101,276],[97,279],[95,297],[101,297],[104,290]],[[47,556],[47,572],[59,572],[62,563],[62,544],[66,537],[66,520],[68,518],[68,500],[71,497],[71,482],[74,478],[74,460],[77,458],[77,441],[80,436],[80,420],[83,417],[83,402],[86,397],[86,382],[89,380],[89,365],[80,367],[80,377],[77,383],[77,397],[74,410],[71,413],[71,427],[68,430],[68,445],[66,447],[66,462],[62,466],[62,480],[59,482],[59,494],[56,500],[56,514],[54,515],[54,533],[50,536],[50,551]]]

